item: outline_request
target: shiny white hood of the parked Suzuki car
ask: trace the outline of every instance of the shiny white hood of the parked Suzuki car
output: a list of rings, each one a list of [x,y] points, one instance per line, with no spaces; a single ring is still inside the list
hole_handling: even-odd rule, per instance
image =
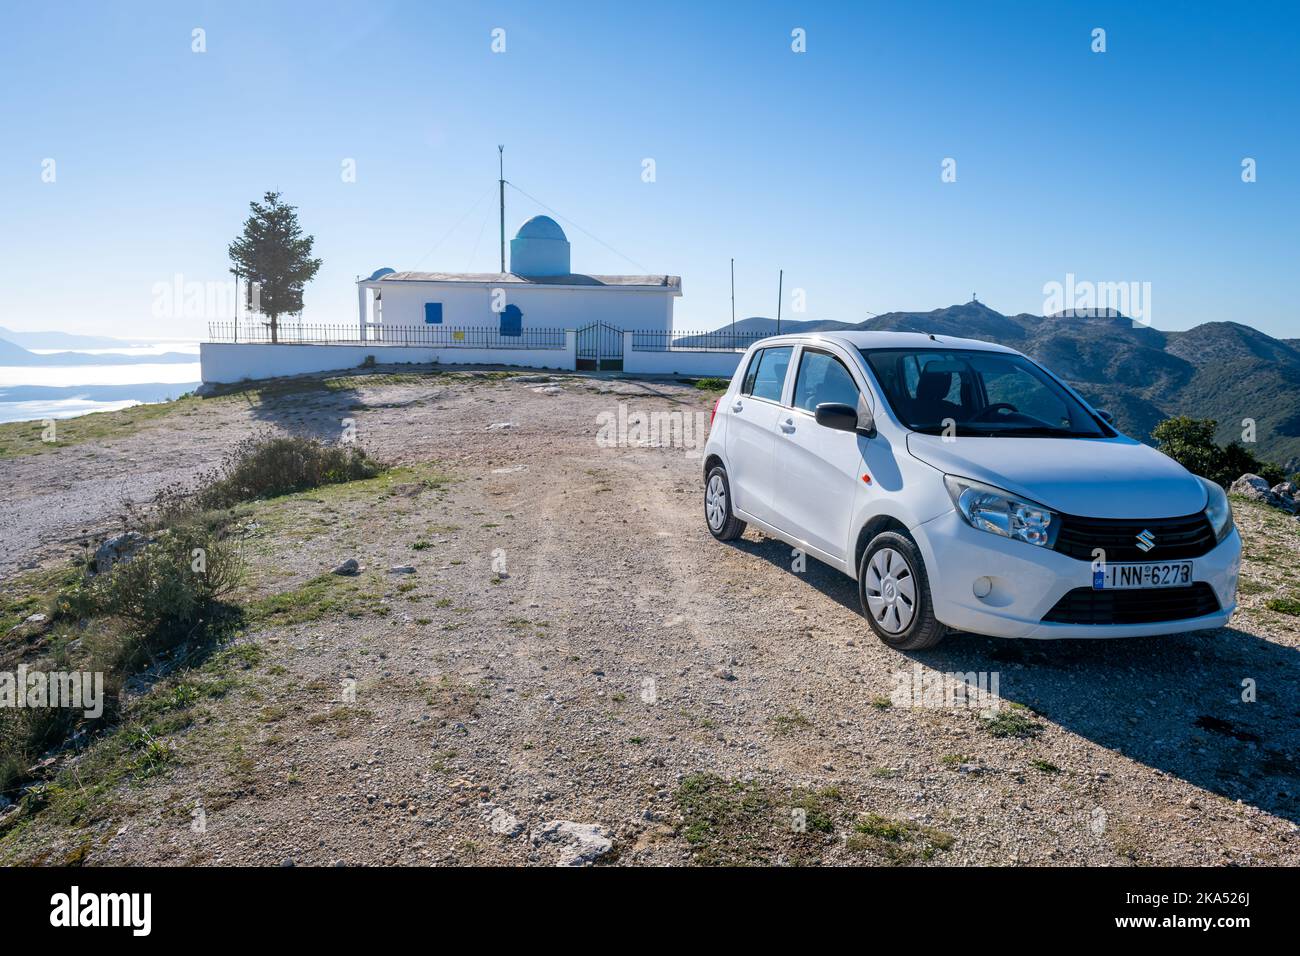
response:
[[[1118,438],[975,438],[907,434],[907,451],[945,475],[975,479],[1087,518],[1178,518],[1205,488],[1169,455]]]

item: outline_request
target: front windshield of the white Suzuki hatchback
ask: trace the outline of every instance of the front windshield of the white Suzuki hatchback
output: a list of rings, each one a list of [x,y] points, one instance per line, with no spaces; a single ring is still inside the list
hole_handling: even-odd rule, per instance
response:
[[[1023,355],[863,349],[898,419],[926,434],[1101,438],[1083,405]]]

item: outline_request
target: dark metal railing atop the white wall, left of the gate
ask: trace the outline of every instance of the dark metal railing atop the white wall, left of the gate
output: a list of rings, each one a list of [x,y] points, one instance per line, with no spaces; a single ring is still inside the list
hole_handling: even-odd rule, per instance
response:
[[[408,345],[432,349],[564,349],[564,329],[521,329],[503,336],[499,328],[452,328],[443,325],[370,325],[361,338],[356,323],[321,325],[281,321],[272,338],[268,323],[208,323],[209,342],[255,345]]]

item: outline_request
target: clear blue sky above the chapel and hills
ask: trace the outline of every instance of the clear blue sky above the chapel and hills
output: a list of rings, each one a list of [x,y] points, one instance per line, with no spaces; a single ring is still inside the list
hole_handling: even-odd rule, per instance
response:
[[[1300,337],[1297,26],[1286,4],[10,7],[0,325],[200,337],[155,286],[228,281],[268,189],[324,259],[304,321],[352,321],[381,265],[495,271],[504,143],[575,271],[682,277],[679,328],[729,319],[734,256],[741,317],[775,312],[780,268],[786,317],[846,321],[972,291],[1040,312],[1074,273],[1149,282],[1157,328]],[[507,234],[541,211],[508,191]]]

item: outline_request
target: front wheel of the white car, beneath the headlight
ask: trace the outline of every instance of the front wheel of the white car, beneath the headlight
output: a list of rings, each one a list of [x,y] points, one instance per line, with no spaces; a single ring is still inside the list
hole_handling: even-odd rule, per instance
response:
[[[897,531],[880,532],[862,553],[858,601],[876,637],[896,650],[924,650],[948,633],[935,619],[920,549]]]

